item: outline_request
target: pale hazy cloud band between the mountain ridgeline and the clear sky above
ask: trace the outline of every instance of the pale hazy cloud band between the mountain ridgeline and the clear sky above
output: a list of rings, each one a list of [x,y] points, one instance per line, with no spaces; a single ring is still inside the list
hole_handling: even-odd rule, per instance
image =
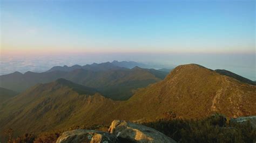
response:
[[[41,56],[5,56],[1,58],[0,75],[19,71],[43,72],[53,66],[73,66],[107,61],[136,61],[168,68],[188,63],[197,63],[210,69],[226,69],[256,80],[254,54],[198,54],[198,53],[81,53]]]

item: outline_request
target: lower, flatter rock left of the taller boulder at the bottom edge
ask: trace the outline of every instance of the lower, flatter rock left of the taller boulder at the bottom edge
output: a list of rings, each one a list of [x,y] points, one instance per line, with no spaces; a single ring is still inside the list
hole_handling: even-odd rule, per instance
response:
[[[56,141],[57,143],[65,142],[118,142],[115,135],[95,130],[72,130],[62,133]]]

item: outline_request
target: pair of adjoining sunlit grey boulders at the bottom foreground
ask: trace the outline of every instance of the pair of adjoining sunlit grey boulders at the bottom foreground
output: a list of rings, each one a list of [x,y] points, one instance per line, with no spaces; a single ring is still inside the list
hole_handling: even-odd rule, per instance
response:
[[[72,130],[62,133],[56,142],[176,142],[153,128],[124,120],[113,120],[109,132]]]

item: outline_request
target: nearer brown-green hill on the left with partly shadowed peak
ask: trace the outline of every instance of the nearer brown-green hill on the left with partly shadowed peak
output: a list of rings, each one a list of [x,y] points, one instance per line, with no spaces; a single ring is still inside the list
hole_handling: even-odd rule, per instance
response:
[[[0,130],[11,127],[19,134],[92,124],[114,104],[91,88],[59,79],[38,84],[5,102],[0,109]]]

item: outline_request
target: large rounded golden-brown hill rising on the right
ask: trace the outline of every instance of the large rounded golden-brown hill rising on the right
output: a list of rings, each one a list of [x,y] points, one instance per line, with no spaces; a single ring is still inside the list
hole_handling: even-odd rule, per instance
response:
[[[214,112],[228,117],[256,115],[255,91],[254,85],[199,65],[178,66],[164,81],[137,91],[110,116],[154,120],[170,111],[184,118],[202,118]]]

